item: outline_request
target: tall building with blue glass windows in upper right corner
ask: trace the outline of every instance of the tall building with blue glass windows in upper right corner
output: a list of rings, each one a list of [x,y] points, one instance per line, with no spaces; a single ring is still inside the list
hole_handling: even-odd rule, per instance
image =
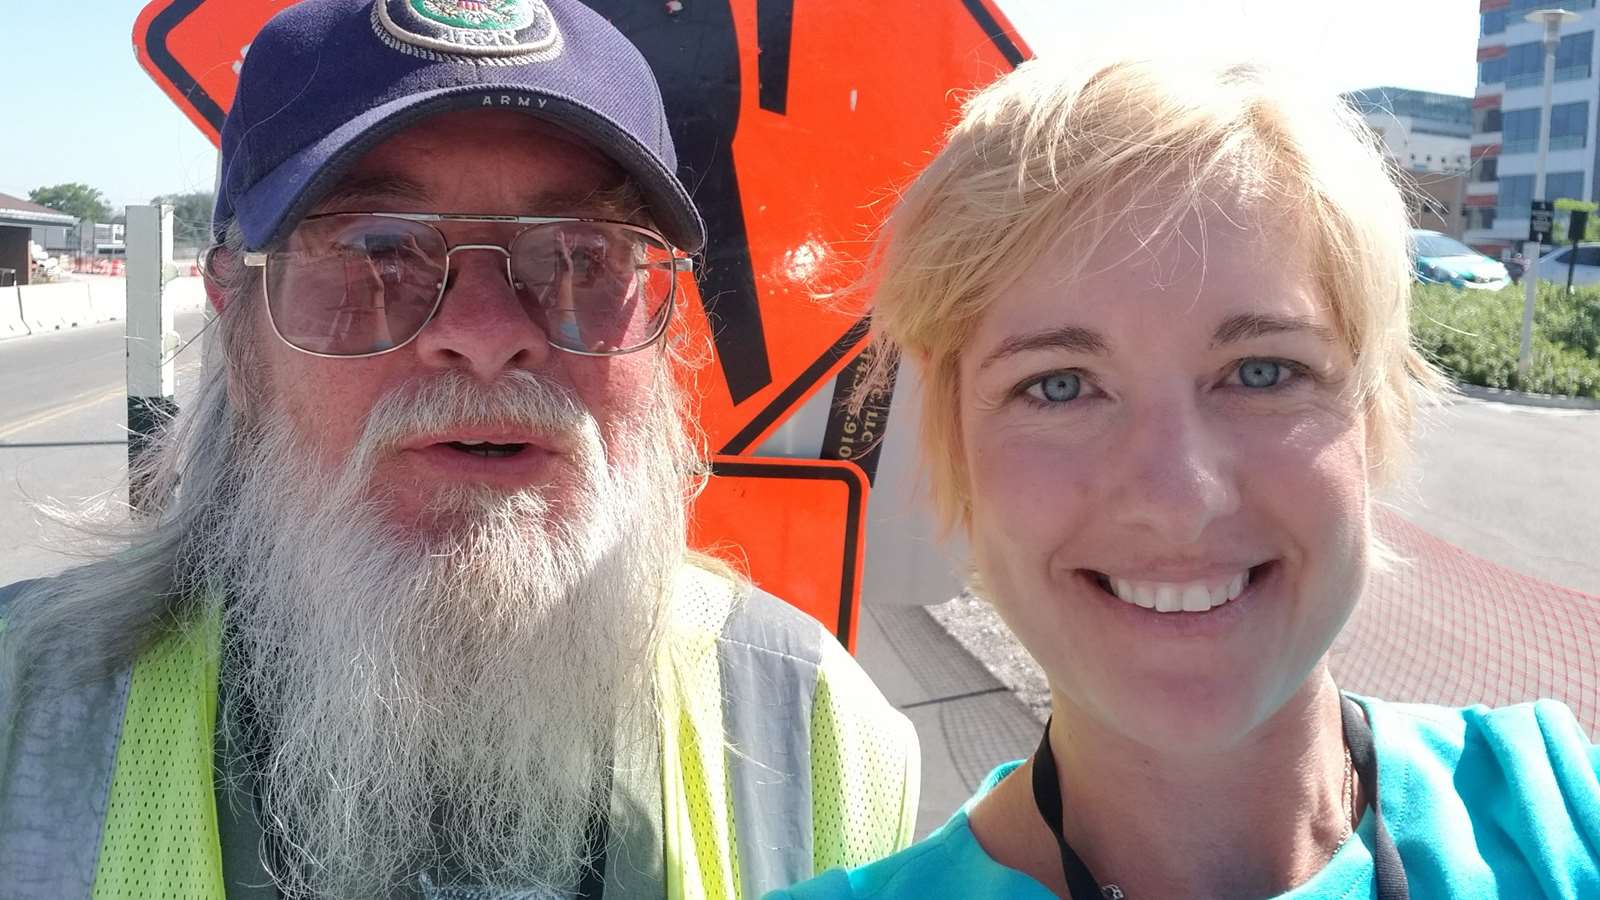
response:
[[[1528,237],[1544,104],[1544,26],[1525,16],[1554,6],[1579,18],[1562,27],[1555,50],[1542,199],[1597,199],[1600,78],[1595,30],[1600,11],[1595,0],[1482,0],[1466,240],[1491,256],[1520,248]]]

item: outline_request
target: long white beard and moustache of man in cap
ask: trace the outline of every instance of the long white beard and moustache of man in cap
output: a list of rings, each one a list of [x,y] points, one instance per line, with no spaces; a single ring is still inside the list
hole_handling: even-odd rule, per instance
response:
[[[230,716],[267,735],[264,826],[290,892],[414,882],[563,890],[586,865],[618,741],[648,740],[650,671],[683,557],[688,440],[666,380],[606,463],[594,420],[533,376],[437,378],[386,397],[344,471],[267,415],[206,564],[226,591]],[[387,524],[373,461],[462,423],[581,448],[576,503],[458,490]],[[629,730],[622,722],[634,724]]]

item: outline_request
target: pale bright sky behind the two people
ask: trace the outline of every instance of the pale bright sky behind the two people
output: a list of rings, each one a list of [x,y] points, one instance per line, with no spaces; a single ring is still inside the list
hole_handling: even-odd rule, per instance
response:
[[[1040,54],[1198,42],[1314,59],[1338,90],[1470,94],[1477,80],[1477,0],[998,3]],[[8,114],[22,112],[21,128],[10,117],[0,125],[0,192],[26,197],[43,184],[85,181],[123,207],[211,187],[211,144],[134,62],[141,6],[0,0],[0,85],[13,101]]]

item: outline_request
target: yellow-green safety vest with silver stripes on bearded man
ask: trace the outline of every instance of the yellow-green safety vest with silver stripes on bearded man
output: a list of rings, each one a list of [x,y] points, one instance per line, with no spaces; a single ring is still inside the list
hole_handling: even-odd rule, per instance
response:
[[[27,602],[0,589],[0,618],[6,593]],[[0,697],[0,895],[274,897],[248,804],[219,802],[218,647],[203,618],[102,681]],[[910,842],[915,732],[798,610],[685,569],[656,685],[659,759],[613,785],[606,900],[760,897]]]

